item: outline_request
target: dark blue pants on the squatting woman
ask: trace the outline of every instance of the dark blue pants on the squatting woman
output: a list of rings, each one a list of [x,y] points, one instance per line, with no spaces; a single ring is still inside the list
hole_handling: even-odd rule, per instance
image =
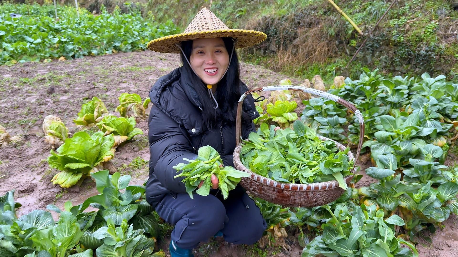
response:
[[[219,230],[229,243],[251,245],[267,229],[259,208],[246,193],[231,196],[229,192],[226,200],[212,194],[193,197],[171,194],[156,206],[159,216],[175,225],[171,237],[182,249],[195,248]]]

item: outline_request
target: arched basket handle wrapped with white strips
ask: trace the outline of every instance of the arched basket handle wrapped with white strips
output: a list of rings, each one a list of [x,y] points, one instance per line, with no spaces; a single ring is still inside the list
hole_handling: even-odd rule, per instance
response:
[[[303,87],[303,86],[265,86],[265,87],[258,87],[249,91],[246,91],[245,93],[240,96],[239,104],[237,105],[237,116],[235,120],[235,136],[236,136],[236,144],[237,146],[240,145],[241,143],[241,137],[242,137],[242,119],[241,119],[241,114],[242,114],[242,105],[243,105],[243,100],[245,100],[245,97],[247,95],[251,95],[252,93],[256,92],[267,92],[267,91],[283,91],[283,90],[290,90],[290,91],[303,91],[306,93],[310,93],[314,96],[322,96],[324,98],[327,98],[329,100],[333,100],[334,102],[340,103],[343,106],[347,107],[350,111],[354,112],[354,115],[358,118],[360,122],[360,140],[358,142],[358,149],[356,150],[356,157],[354,159],[354,165],[353,169],[356,167],[356,161],[360,157],[361,153],[361,148],[363,146],[363,139],[364,139],[364,118],[363,115],[361,114],[360,110],[358,110],[353,104],[345,101],[344,99],[340,98],[339,96],[335,96],[333,94],[323,92],[314,88],[309,88],[309,87]]]

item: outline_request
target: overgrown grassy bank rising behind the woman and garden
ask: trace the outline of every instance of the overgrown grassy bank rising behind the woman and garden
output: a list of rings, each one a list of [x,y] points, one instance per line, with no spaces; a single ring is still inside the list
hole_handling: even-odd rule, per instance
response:
[[[206,6],[230,28],[266,32],[267,40],[256,48],[243,49],[242,58],[285,75],[310,80],[319,74],[329,84],[336,75],[358,77],[362,65],[394,75],[429,71],[458,77],[455,47],[453,43],[444,45],[453,42],[448,31],[458,21],[458,12],[447,0],[413,0],[394,5],[348,69],[345,66],[366,36],[357,35],[327,1],[226,0],[210,4],[207,0],[153,0],[149,3],[149,9],[163,10],[155,11],[156,20],[173,18],[181,29]],[[370,33],[391,4],[387,0],[336,3],[365,33]],[[177,17],[174,13],[182,15]],[[315,33],[311,33],[315,28]],[[299,37],[304,42],[294,45]],[[290,50],[293,47],[297,49]]]

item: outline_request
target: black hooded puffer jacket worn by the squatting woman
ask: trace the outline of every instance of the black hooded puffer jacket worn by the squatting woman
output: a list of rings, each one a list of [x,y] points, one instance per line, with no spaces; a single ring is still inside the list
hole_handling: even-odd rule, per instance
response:
[[[172,167],[183,158],[196,159],[197,150],[205,145],[212,146],[221,155],[226,166],[234,166],[235,124],[223,124],[218,129],[207,129],[201,117],[201,102],[194,87],[187,82],[180,67],[164,75],[153,85],[149,97],[153,103],[149,114],[148,139],[150,150],[149,178],[147,181],[147,202],[155,207],[165,195],[185,193],[183,178],[173,177],[177,171]],[[183,76],[182,76],[183,75]],[[240,89],[243,93],[248,89]],[[234,99],[237,101],[238,99]],[[247,96],[244,110],[254,119],[259,116],[254,100]],[[254,124],[242,128],[243,138],[255,130]],[[212,194],[219,190],[211,189]],[[243,193],[238,185],[230,194]]]

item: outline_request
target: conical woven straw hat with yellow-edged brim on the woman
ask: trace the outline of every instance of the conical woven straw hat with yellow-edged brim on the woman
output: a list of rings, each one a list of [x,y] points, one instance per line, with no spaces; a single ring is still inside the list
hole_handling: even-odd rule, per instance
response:
[[[153,39],[148,43],[148,49],[159,53],[179,54],[180,48],[175,44],[198,38],[215,37],[233,37],[235,40],[234,47],[244,48],[264,41],[267,35],[255,30],[229,29],[213,12],[202,7],[189,23],[185,32]]]

